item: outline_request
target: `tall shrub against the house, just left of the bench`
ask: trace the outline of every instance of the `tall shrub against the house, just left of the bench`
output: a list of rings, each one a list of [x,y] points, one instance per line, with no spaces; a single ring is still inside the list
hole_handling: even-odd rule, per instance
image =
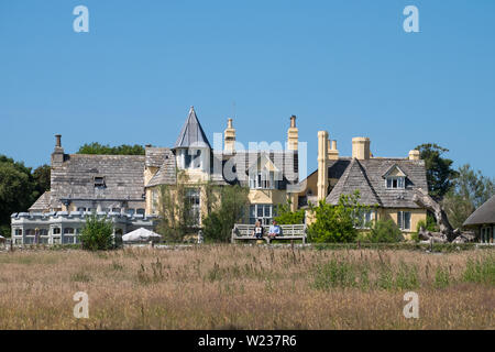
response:
[[[249,188],[218,187],[220,204],[202,219],[205,240],[229,242],[235,222],[246,212]]]

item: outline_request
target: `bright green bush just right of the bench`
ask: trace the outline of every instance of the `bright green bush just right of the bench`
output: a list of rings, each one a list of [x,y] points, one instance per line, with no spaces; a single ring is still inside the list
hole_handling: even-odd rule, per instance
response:
[[[308,239],[316,243],[354,242],[358,238],[356,227],[362,226],[362,219],[355,215],[369,210],[359,202],[360,193],[341,195],[339,204],[332,206],[320,200],[318,207],[310,207],[316,221],[308,228]]]

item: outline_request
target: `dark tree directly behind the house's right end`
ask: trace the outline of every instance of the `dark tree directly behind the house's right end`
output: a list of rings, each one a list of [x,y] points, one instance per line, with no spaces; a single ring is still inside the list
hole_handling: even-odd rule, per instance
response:
[[[435,143],[421,144],[416,147],[425,161],[428,193],[435,199],[441,199],[452,187],[458,173],[452,169],[452,161],[442,157],[449,150]]]

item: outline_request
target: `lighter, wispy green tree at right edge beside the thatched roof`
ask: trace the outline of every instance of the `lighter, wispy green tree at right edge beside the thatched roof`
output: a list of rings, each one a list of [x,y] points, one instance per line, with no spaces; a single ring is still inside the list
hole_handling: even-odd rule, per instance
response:
[[[459,168],[453,187],[446,195],[442,207],[454,229],[495,194],[495,180],[474,172],[469,164]]]

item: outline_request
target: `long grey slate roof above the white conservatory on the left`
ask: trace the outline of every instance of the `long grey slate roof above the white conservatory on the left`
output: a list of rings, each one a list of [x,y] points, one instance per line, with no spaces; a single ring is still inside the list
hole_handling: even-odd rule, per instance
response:
[[[66,155],[52,169],[52,207],[61,199],[143,200],[144,155]],[[105,177],[105,187],[95,187]]]

